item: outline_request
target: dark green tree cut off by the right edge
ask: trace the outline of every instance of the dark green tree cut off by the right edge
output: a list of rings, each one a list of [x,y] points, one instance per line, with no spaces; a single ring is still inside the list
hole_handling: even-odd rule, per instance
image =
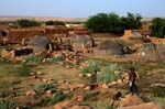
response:
[[[153,19],[151,25],[151,35],[156,37],[165,37],[165,19]]]

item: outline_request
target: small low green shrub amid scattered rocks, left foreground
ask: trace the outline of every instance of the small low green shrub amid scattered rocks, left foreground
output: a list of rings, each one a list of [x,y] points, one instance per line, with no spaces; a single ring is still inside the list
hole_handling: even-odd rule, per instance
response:
[[[46,84],[46,83],[37,84],[37,85],[34,86],[34,90],[38,90],[38,89],[47,90],[47,89],[51,89],[53,87],[54,87],[53,84]]]

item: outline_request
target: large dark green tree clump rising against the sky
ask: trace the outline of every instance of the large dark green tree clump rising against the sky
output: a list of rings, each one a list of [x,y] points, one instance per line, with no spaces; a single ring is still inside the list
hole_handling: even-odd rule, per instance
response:
[[[141,28],[141,15],[128,13],[127,17],[119,17],[116,13],[98,13],[92,15],[85,23],[87,29],[91,29],[95,32],[111,32],[121,33],[125,29],[139,29]]]

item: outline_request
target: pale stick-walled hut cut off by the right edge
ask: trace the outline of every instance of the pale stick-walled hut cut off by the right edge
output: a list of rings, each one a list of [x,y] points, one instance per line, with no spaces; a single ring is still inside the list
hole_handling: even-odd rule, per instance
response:
[[[141,61],[162,61],[165,62],[165,43],[145,43],[138,53]]]

